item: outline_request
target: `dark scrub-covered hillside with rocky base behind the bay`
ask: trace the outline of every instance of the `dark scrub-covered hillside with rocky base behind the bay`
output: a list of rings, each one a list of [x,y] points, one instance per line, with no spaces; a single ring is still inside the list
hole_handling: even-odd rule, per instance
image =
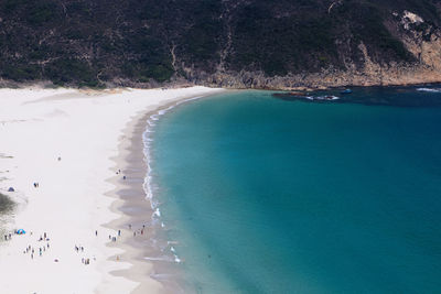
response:
[[[441,81],[441,0],[1,0],[0,77],[299,88]]]

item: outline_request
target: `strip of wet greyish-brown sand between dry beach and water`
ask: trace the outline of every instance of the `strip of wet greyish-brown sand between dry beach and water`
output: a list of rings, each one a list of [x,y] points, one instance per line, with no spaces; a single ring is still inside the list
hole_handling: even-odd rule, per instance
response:
[[[116,189],[109,192],[107,196],[115,198],[111,210],[119,213],[121,217],[104,226],[112,228],[114,230],[120,229],[126,236],[122,242],[116,246],[125,250],[119,257],[122,261],[128,261],[131,266],[126,270],[114,271],[112,274],[139,283],[131,292],[132,294],[142,294],[147,292],[155,293],[155,291],[160,293],[176,293],[176,290],[179,290],[179,284],[172,279],[169,279],[172,277],[174,273],[157,273],[159,264],[155,262],[155,259],[158,259],[157,261],[159,262],[165,263],[173,263],[175,261],[164,261],[164,257],[160,257],[161,251],[155,248],[158,246],[152,244],[152,238],[155,238],[157,230],[160,229],[160,226],[159,224],[154,224],[153,220],[155,213],[152,203],[153,199],[151,198],[153,195],[149,197],[149,192],[146,187],[146,185],[150,185],[150,183],[146,182],[146,178],[149,176],[148,168],[150,167],[148,167],[148,165],[150,160],[147,159],[147,146],[144,142],[147,139],[144,134],[149,128],[149,120],[152,116],[162,116],[159,115],[160,111],[166,112],[191,100],[204,99],[215,95],[216,92],[185,97],[160,106],[147,113],[140,113],[126,127],[125,133],[130,134],[130,137],[119,142],[118,150],[120,155],[112,160],[116,163],[116,170],[121,168],[121,172],[127,178],[121,179],[121,175],[116,175],[108,179],[116,186]],[[152,126],[150,124],[150,127]],[[131,229],[128,227],[129,225]],[[143,230],[143,233],[140,233],[141,230]],[[133,231],[137,232],[136,237],[132,236]],[[158,240],[154,239],[154,241]],[[108,246],[111,247],[112,243]],[[147,258],[151,258],[151,260]],[[162,270],[162,268],[160,269]],[[157,277],[152,277],[152,275],[157,275]],[[162,276],[162,279],[160,276]]]

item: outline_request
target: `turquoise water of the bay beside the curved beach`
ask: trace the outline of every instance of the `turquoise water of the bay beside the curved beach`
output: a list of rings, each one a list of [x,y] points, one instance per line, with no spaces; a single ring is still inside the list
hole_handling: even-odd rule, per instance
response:
[[[245,91],[158,121],[154,197],[185,293],[441,293],[441,94],[346,100]]]

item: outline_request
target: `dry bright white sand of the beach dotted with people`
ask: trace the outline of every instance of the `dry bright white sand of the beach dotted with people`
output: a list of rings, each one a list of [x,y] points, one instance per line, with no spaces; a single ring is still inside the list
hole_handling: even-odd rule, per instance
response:
[[[115,259],[122,250],[106,243],[116,231],[101,227],[120,217],[109,209],[114,199],[105,196],[115,188],[106,181],[115,176],[111,157],[118,156],[130,120],[173,100],[216,91],[0,89],[0,193],[21,203],[12,221],[1,226],[28,232],[0,242],[0,293],[133,291],[138,283],[110,273],[130,263]],[[9,187],[15,192],[8,193]],[[44,232],[50,248],[40,257],[39,248],[47,242],[37,239]],[[23,253],[29,244],[33,259]],[[75,244],[84,252],[77,253]],[[151,280],[149,288],[155,293],[161,285]]]

